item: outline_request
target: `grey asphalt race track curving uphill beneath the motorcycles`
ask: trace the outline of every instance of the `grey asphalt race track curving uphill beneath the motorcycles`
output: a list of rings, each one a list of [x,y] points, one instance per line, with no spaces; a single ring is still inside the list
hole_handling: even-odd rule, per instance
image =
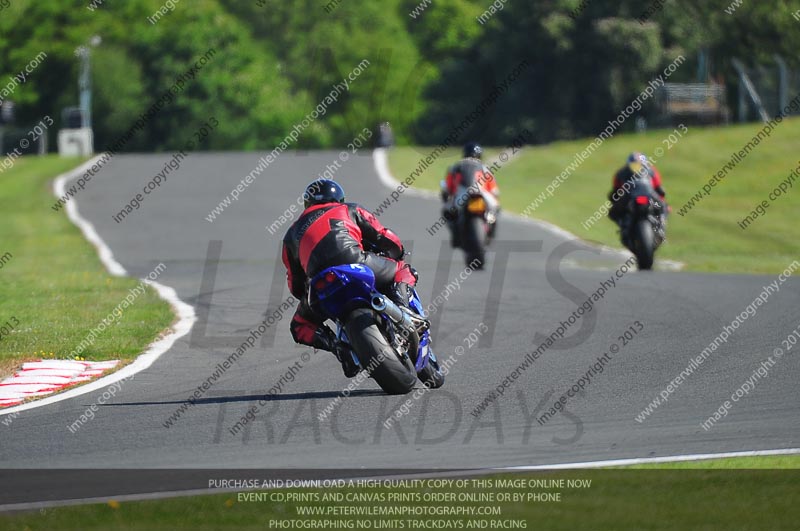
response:
[[[701,427],[798,324],[800,285],[793,278],[668,402],[644,422],[634,420],[777,276],[631,271],[504,396],[477,418],[471,415],[536,348],[537,334],[554,331],[625,259],[566,243],[563,236],[510,217],[501,220],[495,246],[504,253],[490,253],[487,270],[463,280],[434,315],[440,359],[459,346],[464,353],[454,357],[445,386],[413,401],[395,426],[385,429],[383,422],[410,395],[387,397],[370,380],[319,420],[348,380],[330,354],[294,345],[289,310],[165,427],[217,364],[289,296],[279,262],[288,224],[274,235],[266,227],[338,157],[333,151],[284,153],[238,202],[208,222],[209,211],[263,154],[191,154],[121,223],[112,215],[171,155],[117,156],[78,195],[81,214],[116,260],[137,277],[166,264],[159,282],[193,305],[199,322],[149,369],[124,382],[75,433],[68,425],[100,391],[24,411],[10,426],[0,426],[2,468],[481,468],[800,446],[800,360],[794,352],[779,359],[726,418],[709,431]],[[351,156],[341,166],[334,177],[349,200],[373,210],[390,193],[370,153]],[[413,242],[425,303],[464,269],[461,255],[443,245],[445,230],[426,232],[437,217],[435,200],[408,193],[381,215],[384,224]],[[623,346],[618,338],[638,327],[635,321],[643,330]],[[465,338],[476,328],[488,332],[469,348],[473,341]],[[583,396],[571,398],[567,412],[539,425],[535,417],[612,343],[619,343],[619,352]],[[310,353],[308,361],[304,353]],[[298,361],[302,367],[294,380],[284,377],[279,396],[231,434]]]

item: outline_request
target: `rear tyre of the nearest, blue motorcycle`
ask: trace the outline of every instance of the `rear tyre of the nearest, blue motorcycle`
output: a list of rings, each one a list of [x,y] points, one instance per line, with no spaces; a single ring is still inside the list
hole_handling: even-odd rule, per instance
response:
[[[375,312],[367,308],[354,310],[345,325],[347,337],[358,361],[387,394],[410,393],[417,383],[417,371],[407,357],[401,358],[389,346],[375,322]]]

